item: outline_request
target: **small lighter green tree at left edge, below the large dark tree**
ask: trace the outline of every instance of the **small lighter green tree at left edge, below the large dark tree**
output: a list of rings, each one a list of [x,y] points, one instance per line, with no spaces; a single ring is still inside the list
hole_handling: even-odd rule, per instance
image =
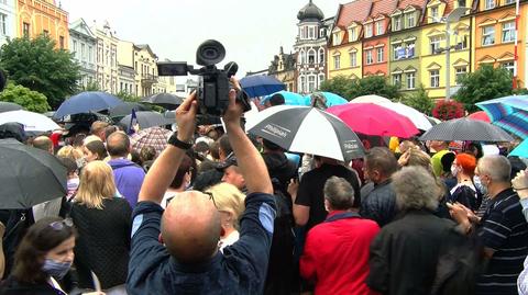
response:
[[[14,102],[25,110],[36,113],[44,113],[50,110],[50,104],[47,104],[44,94],[23,86],[15,86],[12,82],[8,83],[6,89],[0,92],[0,101]]]

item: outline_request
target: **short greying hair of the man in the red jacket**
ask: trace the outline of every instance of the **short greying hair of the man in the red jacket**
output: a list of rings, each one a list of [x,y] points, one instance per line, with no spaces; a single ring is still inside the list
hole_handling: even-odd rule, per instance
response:
[[[324,183],[323,193],[332,209],[350,209],[354,203],[354,189],[343,178],[329,178]]]

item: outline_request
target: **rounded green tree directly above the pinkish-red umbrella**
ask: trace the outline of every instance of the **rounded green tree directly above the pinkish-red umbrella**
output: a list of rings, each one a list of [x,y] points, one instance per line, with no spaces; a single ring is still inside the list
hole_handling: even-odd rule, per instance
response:
[[[376,94],[395,101],[402,98],[402,93],[398,90],[398,86],[391,84],[383,76],[369,76],[353,80],[346,97],[354,99],[361,95]]]

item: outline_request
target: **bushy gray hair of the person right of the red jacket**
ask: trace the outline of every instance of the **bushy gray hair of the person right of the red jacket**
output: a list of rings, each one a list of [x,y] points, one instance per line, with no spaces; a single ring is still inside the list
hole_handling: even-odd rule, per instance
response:
[[[400,211],[427,208],[436,211],[440,188],[421,166],[408,166],[393,175],[396,206]]]

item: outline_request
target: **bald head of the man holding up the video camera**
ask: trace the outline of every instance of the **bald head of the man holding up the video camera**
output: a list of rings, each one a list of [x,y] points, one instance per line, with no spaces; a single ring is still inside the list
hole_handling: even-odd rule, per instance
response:
[[[179,193],[163,214],[163,240],[170,256],[182,263],[210,259],[218,250],[220,231],[215,203],[198,191]]]

